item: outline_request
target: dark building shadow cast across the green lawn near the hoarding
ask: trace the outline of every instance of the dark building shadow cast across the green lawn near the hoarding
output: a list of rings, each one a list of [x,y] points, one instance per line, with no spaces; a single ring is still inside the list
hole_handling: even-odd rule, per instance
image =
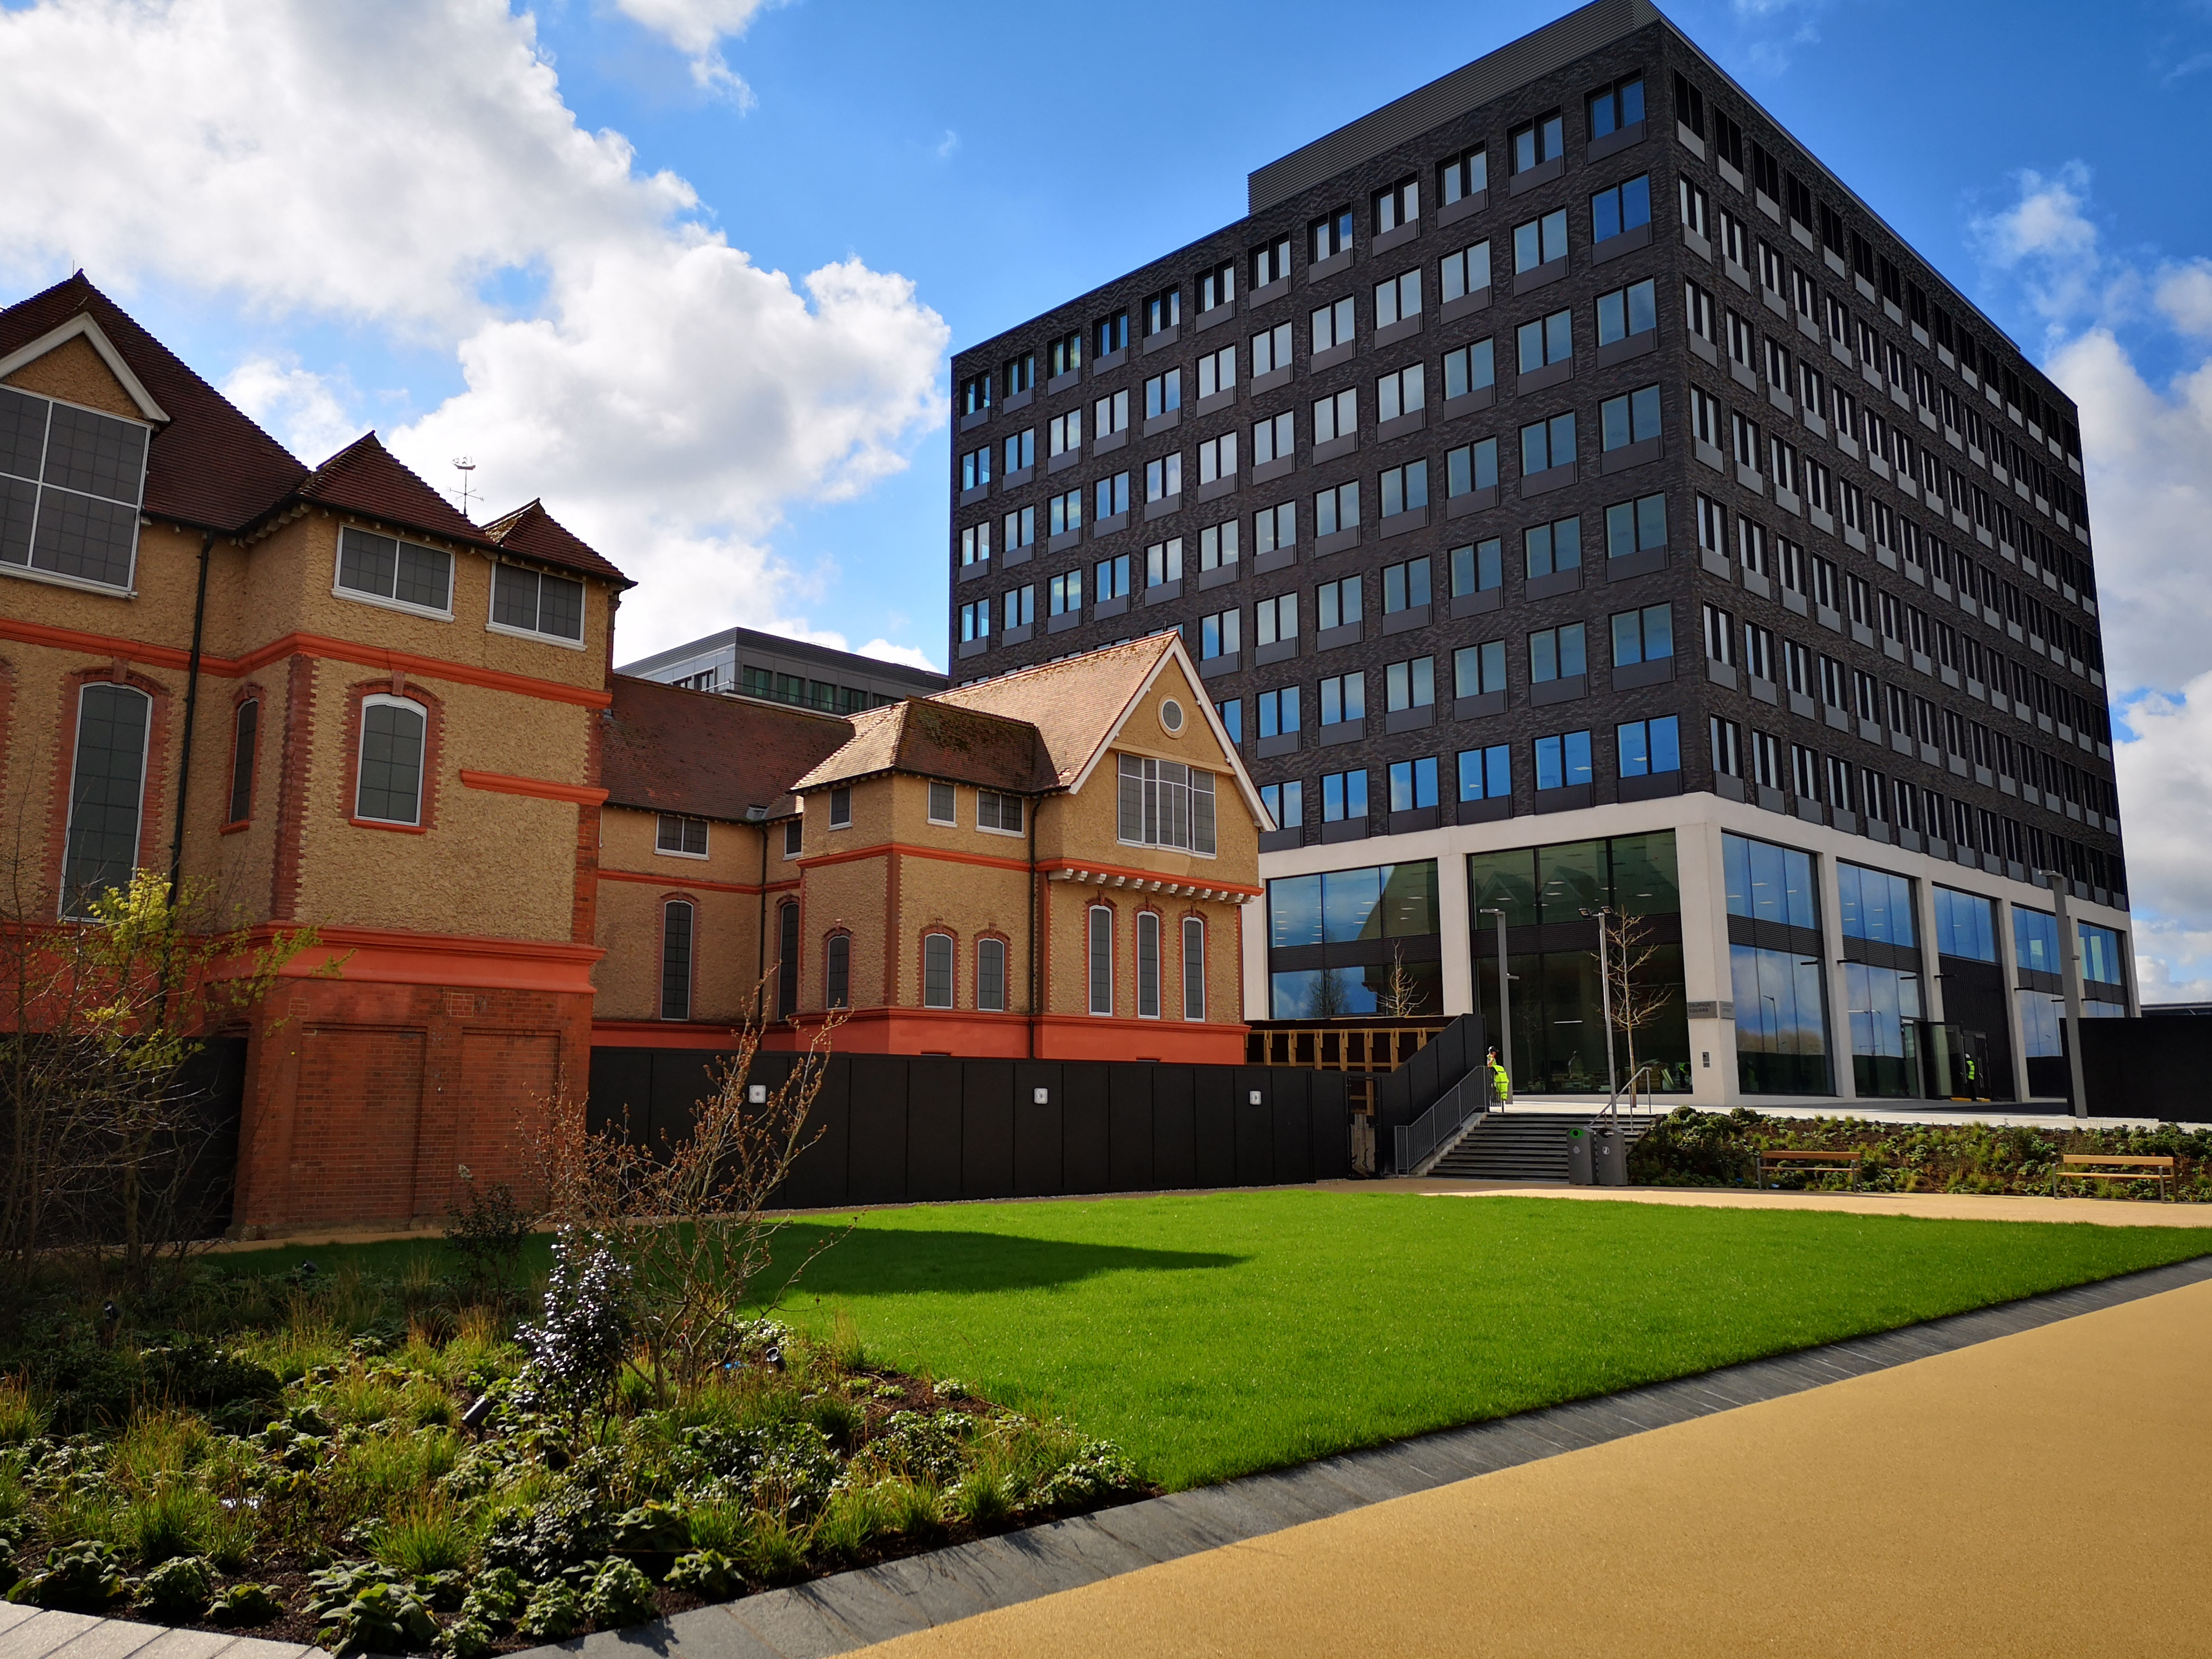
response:
[[[1137,1245],[1020,1239],[1004,1232],[907,1232],[792,1221],[776,1237],[776,1265],[763,1276],[759,1301],[770,1301],[825,1239],[834,1239],[801,1281],[810,1294],[909,1296],[947,1292],[973,1296],[993,1290],[1048,1290],[1117,1272],[1175,1272],[1237,1267],[1250,1256],[1217,1250],[1144,1250]]]

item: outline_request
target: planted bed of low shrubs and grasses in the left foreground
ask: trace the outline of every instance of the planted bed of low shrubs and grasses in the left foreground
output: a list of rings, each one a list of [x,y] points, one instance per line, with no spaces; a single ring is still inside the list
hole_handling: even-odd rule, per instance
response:
[[[9,1599],[480,1659],[1155,1491],[849,1332],[759,1318],[701,1387],[553,1409],[449,1287],[215,1281],[159,1340],[64,1307],[0,1356]]]

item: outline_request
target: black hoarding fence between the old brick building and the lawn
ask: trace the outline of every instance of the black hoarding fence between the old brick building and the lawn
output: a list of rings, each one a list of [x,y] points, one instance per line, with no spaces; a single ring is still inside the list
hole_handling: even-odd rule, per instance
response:
[[[588,1121],[650,1146],[681,1139],[723,1060],[593,1048]],[[757,1055],[748,1082],[774,1088],[799,1060]],[[832,1055],[779,1206],[1294,1186],[1349,1175],[1349,1130],[1338,1073]]]

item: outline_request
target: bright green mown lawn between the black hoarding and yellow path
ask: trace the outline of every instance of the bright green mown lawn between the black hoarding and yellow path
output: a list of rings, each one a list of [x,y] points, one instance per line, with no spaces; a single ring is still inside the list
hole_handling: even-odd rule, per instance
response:
[[[794,1223],[794,1261],[821,1223]],[[799,1237],[794,1237],[799,1234]],[[396,1272],[420,1243],[239,1267]],[[792,1292],[1192,1486],[2212,1252],[2168,1228],[1232,1192],[878,1210]]]

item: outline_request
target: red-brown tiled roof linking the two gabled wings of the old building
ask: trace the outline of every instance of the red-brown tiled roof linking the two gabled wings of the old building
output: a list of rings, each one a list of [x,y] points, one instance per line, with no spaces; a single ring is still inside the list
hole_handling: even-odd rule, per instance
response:
[[[790,790],[852,737],[852,721],[750,697],[615,675],[599,714],[608,805],[739,823],[792,810]]]

